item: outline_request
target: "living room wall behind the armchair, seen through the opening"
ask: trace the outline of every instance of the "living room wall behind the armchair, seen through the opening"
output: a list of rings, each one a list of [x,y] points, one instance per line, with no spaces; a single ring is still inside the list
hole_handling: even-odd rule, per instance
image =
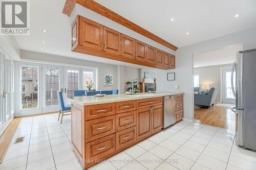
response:
[[[223,64],[223,65],[194,68],[194,75],[199,75],[200,91],[202,90],[201,89],[202,84],[209,85],[210,88],[211,87],[218,88],[215,102],[221,102],[221,98],[222,98],[221,96],[221,69],[222,68],[232,68],[232,64]]]

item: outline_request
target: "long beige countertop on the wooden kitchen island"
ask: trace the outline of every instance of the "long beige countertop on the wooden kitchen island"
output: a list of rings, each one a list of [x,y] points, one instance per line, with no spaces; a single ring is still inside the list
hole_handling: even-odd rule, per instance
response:
[[[155,93],[137,93],[137,94],[113,94],[105,96],[81,96],[69,98],[73,103],[87,106],[104,103],[132,101],[138,99],[156,98],[167,95],[184,94],[184,92],[155,92]]]

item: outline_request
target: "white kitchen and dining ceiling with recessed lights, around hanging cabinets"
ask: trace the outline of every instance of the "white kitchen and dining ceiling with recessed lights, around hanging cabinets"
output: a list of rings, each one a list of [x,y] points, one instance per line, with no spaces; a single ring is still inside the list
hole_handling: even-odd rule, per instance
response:
[[[256,27],[254,0],[96,1],[178,47]],[[30,35],[15,36],[19,47],[22,50],[119,64],[71,52],[70,19],[62,14],[64,4],[65,0],[30,1]],[[241,16],[234,18],[237,13]],[[169,20],[172,17],[174,21]],[[47,33],[43,33],[43,29]],[[186,32],[190,34],[186,35]]]

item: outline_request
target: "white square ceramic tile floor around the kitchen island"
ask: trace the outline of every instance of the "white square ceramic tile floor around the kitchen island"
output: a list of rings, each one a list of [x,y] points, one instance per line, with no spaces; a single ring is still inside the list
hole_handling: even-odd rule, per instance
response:
[[[71,118],[57,114],[23,118],[0,169],[82,169],[73,152]],[[182,121],[137,143],[97,169],[256,169],[256,152],[239,148],[234,131]],[[16,137],[25,136],[14,144]]]

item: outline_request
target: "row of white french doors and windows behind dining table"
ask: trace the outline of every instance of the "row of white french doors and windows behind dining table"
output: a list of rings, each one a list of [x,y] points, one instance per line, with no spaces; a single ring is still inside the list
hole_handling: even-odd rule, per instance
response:
[[[17,116],[58,111],[58,90],[68,105],[73,90],[86,89],[87,82],[96,82],[96,69],[27,62],[16,62],[15,68]]]

